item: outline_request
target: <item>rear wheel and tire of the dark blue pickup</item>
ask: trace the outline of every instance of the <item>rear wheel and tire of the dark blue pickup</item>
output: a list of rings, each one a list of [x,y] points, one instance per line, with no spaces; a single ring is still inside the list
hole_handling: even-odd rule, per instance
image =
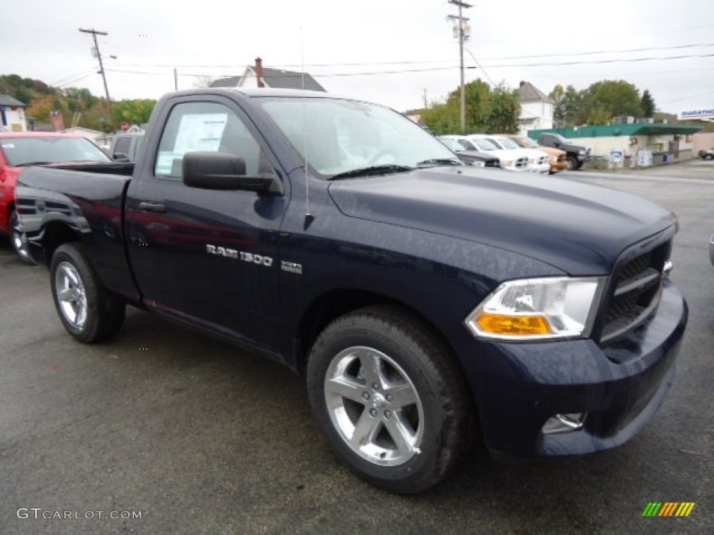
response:
[[[111,297],[76,243],[65,243],[50,263],[52,299],[64,328],[79,342],[101,342],[124,324],[126,305]]]

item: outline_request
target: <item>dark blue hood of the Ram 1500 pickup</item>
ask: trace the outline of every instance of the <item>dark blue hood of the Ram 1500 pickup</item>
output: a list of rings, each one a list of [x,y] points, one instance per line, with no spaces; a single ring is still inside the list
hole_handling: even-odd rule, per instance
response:
[[[628,193],[466,167],[343,180],[329,193],[349,217],[491,245],[570,275],[608,274],[629,245],[675,224]]]

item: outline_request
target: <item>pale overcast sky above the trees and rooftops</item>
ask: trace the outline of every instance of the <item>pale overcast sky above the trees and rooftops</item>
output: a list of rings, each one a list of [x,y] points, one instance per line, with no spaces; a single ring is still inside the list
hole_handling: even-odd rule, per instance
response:
[[[191,88],[201,76],[241,74],[256,56],[269,67],[299,71],[303,63],[328,91],[399,111],[421,107],[425,94],[443,98],[459,82],[446,18],[456,7],[446,0],[3,4],[1,74],[104,95],[91,36],[78,31],[94,27],[109,33],[99,46],[112,99],[173,91],[174,66],[178,87]],[[557,83],[581,89],[624,79],[649,89],[663,111],[714,108],[712,0],[481,0],[464,14],[466,81],[515,88],[527,80],[548,93]],[[672,56],[688,57],[663,59]],[[658,59],[620,61],[643,58]]]

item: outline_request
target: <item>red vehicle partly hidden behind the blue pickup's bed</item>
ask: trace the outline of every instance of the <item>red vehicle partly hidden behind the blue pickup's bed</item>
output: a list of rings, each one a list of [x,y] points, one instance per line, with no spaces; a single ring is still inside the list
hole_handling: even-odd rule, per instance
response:
[[[99,147],[81,136],[50,132],[0,132],[0,234],[10,237],[24,255],[22,230],[15,210],[15,185],[26,165],[111,162]]]

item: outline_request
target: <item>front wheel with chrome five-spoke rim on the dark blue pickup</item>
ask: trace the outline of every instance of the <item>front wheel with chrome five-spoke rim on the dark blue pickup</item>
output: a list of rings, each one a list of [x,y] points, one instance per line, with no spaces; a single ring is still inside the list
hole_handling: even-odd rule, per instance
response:
[[[471,397],[450,352],[416,318],[367,307],[328,325],[308,361],[308,396],[338,459],[398,494],[444,479],[471,445]]]

